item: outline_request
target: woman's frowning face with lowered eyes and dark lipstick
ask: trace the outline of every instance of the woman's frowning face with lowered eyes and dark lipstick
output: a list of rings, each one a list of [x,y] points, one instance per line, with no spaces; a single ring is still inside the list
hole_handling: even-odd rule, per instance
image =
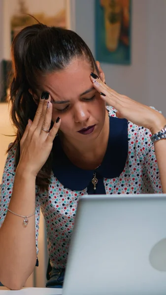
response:
[[[105,103],[93,88],[91,71],[85,59],[75,59],[66,69],[42,78],[53,104],[52,120],[61,118],[60,130],[70,140],[95,139],[104,125]]]

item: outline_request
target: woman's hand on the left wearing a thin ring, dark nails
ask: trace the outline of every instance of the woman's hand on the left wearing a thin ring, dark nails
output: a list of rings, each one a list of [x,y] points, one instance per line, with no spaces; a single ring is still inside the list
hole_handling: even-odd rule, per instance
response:
[[[41,97],[43,97],[42,93]],[[48,92],[44,97],[48,97]],[[37,176],[42,166],[47,161],[53,146],[53,140],[61,124],[60,118],[57,118],[52,129],[49,132],[52,119],[52,103],[50,96],[48,99],[41,99],[32,120],[29,119],[26,130],[20,141],[20,160],[17,169],[21,167],[25,173]]]

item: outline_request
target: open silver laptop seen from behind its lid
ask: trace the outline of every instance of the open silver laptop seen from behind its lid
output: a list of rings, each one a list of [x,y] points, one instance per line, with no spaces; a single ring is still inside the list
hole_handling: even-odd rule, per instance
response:
[[[166,295],[166,194],[81,197],[63,295]]]

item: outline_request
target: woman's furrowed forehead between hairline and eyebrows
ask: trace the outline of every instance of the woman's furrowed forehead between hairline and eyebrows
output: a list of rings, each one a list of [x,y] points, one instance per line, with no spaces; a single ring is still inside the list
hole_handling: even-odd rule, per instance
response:
[[[85,59],[75,59],[63,70],[42,77],[43,90],[54,98],[72,99],[92,87],[92,68]]]

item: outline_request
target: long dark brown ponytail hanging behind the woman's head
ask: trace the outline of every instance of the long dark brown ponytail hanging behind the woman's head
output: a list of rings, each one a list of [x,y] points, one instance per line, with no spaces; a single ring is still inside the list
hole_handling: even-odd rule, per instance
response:
[[[20,159],[20,141],[28,124],[28,119],[31,118],[33,120],[37,110],[37,105],[33,100],[32,94],[29,92],[31,85],[29,85],[26,76],[26,57],[32,39],[35,38],[38,32],[45,27],[46,26],[41,24],[26,27],[16,35],[12,42],[11,56],[13,77],[10,85],[9,103],[11,103],[10,116],[17,129],[17,133],[15,141],[10,145],[7,152],[13,148],[13,146],[16,146],[16,167]],[[48,184],[50,183],[50,174],[51,154],[36,177],[36,184],[41,190],[48,187]]]

